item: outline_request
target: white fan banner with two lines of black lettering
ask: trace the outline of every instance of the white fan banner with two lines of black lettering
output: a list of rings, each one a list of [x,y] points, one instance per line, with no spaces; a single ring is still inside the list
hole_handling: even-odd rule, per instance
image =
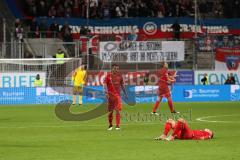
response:
[[[100,42],[103,62],[173,62],[184,61],[183,41]]]

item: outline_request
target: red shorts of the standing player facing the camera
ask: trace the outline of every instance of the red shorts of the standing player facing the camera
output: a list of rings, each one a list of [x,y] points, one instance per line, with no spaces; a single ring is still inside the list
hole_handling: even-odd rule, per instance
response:
[[[122,110],[122,101],[120,95],[111,95],[108,98],[108,111]]]

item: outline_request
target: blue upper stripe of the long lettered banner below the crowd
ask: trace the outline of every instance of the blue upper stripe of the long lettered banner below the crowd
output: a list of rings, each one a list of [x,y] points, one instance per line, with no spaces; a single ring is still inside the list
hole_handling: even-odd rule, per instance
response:
[[[50,25],[54,21],[57,23],[64,25],[66,22],[68,22],[71,26],[138,26],[139,28],[144,28],[147,22],[151,22],[157,26],[161,26],[163,24],[173,24],[176,20],[179,24],[188,24],[188,25],[194,25],[194,18],[188,18],[188,17],[181,17],[181,18],[175,18],[175,17],[167,17],[167,18],[155,18],[155,17],[138,17],[138,18],[115,18],[115,19],[100,19],[100,20],[94,20],[94,19],[82,19],[82,18],[46,18],[46,17],[39,17],[37,18],[37,21],[39,23],[42,22],[42,20],[45,20],[45,22]],[[229,29],[239,29],[240,28],[240,21],[239,19],[208,19],[208,20],[201,20],[198,21],[197,24],[204,24],[204,26],[227,26]],[[187,28],[183,28],[186,29]],[[208,28],[210,29],[219,29],[219,28]],[[223,28],[224,29],[224,28]],[[162,28],[164,30],[164,28]]]

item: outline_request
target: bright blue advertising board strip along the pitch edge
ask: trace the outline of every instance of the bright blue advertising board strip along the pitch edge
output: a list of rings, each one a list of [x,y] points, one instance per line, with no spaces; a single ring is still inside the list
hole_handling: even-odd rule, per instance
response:
[[[123,103],[154,103],[157,99],[157,90],[157,86],[127,86],[129,100],[123,99]],[[83,93],[85,104],[106,103],[102,86],[88,86]],[[172,98],[174,102],[240,101],[240,86],[179,85],[173,87]],[[58,93],[49,87],[0,88],[0,104],[57,104],[71,99],[71,95]]]

